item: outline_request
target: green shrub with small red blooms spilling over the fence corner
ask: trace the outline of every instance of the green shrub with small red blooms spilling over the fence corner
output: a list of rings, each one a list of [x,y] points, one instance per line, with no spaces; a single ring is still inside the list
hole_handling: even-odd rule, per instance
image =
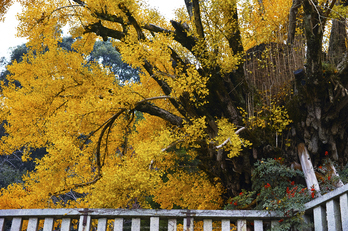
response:
[[[307,188],[298,182],[301,178],[304,182],[302,171],[287,167],[283,159],[258,161],[252,174],[252,191],[243,190],[230,199],[225,209],[278,211],[284,218],[277,230],[291,227],[302,230],[304,204],[312,198]]]

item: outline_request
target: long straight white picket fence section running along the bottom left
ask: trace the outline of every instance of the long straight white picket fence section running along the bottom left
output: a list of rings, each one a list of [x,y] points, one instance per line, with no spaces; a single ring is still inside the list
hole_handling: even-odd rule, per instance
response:
[[[125,221],[131,221],[131,231],[176,231],[177,224],[183,230],[193,230],[195,221],[203,221],[203,230],[213,230],[213,221],[221,221],[221,230],[230,231],[236,227],[238,231],[247,231],[247,220],[253,223],[254,230],[278,224],[282,216],[276,212],[258,210],[151,210],[151,209],[14,209],[0,210],[0,231],[4,231],[5,220],[12,218],[10,231],[20,231],[23,220],[29,220],[27,231],[37,231],[39,220],[44,219],[43,231],[56,230],[55,221],[61,231],[70,231],[72,220],[79,220],[78,231],[91,230],[92,221],[98,221],[97,231],[125,230]],[[141,221],[148,221],[149,228],[141,227]],[[111,224],[110,224],[111,221]],[[235,224],[235,226],[231,226]],[[219,227],[220,228],[220,227]],[[129,230],[129,228],[128,228]]]

